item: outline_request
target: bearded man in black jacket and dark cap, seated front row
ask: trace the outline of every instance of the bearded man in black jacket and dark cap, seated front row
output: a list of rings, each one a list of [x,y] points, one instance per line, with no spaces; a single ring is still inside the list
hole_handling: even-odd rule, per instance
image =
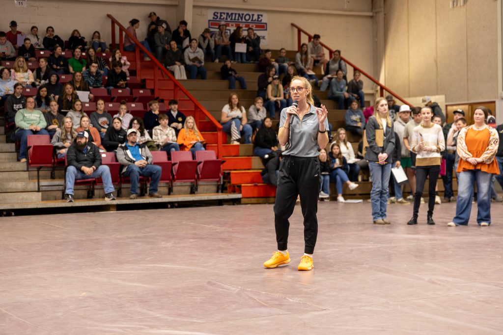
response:
[[[78,132],[75,142],[68,147],[66,152],[66,202],[73,202],[73,187],[75,180],[100,178],[103,180],[105,190],[105,200],[115,200],[114,185],[110,169],[101,164],[100,149],[92,142],[88,141],[89,133]]]

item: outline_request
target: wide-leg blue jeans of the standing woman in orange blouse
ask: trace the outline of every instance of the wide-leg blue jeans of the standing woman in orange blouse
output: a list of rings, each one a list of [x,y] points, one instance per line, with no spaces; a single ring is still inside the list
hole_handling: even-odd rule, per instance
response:
[[[477,224],[491,223],[491,180],[492,174],[478,169],[459,173],[456,216],[452,219],[456,226],[468,225],[474,182],[477,183]]]

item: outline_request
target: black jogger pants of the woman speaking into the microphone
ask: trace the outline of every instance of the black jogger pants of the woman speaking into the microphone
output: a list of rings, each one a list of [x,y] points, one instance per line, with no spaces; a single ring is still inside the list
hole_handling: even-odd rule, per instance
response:
[[[297,195],[304,216],[304,253],[312,254],[318,235],[319,162],[317,157],[285,156],[280,164],[278,189],[274,204],[274,225],[278,250],[288,244],[288,218],[295,208]]]

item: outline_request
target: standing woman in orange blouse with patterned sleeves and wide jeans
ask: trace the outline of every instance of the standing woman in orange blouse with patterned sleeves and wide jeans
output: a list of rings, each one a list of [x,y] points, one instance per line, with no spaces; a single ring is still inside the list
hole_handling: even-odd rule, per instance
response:
[[[477,183],[477,224],[491,224],[491,181],[493,174],[499,174],[494,159],[499,137],[494,128],[485,124],[488,114],[487,108],[477,107],[473,112],[474,124],[459,131],[456,148],[460,158],[456,216],[448,226],[468,225],[474,182]]]

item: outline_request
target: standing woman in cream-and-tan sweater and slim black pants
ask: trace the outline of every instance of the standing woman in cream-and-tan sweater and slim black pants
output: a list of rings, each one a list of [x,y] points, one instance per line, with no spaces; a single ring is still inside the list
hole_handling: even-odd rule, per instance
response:
[[[417,155],[415,158],[416,184],[414,209],[412,218],[407,222],[407,225],[417,225],[417,215],[419,213],[426,177],[429,178],[428,217],[426,223],[428,225],[435,225],[435,221],[433,220],[435,186],[437,185],[440,163],[442,161],[440,152],[445,149],[445,140],[442,127],[432,122],[432,116],[433,111],[430,107],[421,108],[423,122],[413,130],[411,149]]]

